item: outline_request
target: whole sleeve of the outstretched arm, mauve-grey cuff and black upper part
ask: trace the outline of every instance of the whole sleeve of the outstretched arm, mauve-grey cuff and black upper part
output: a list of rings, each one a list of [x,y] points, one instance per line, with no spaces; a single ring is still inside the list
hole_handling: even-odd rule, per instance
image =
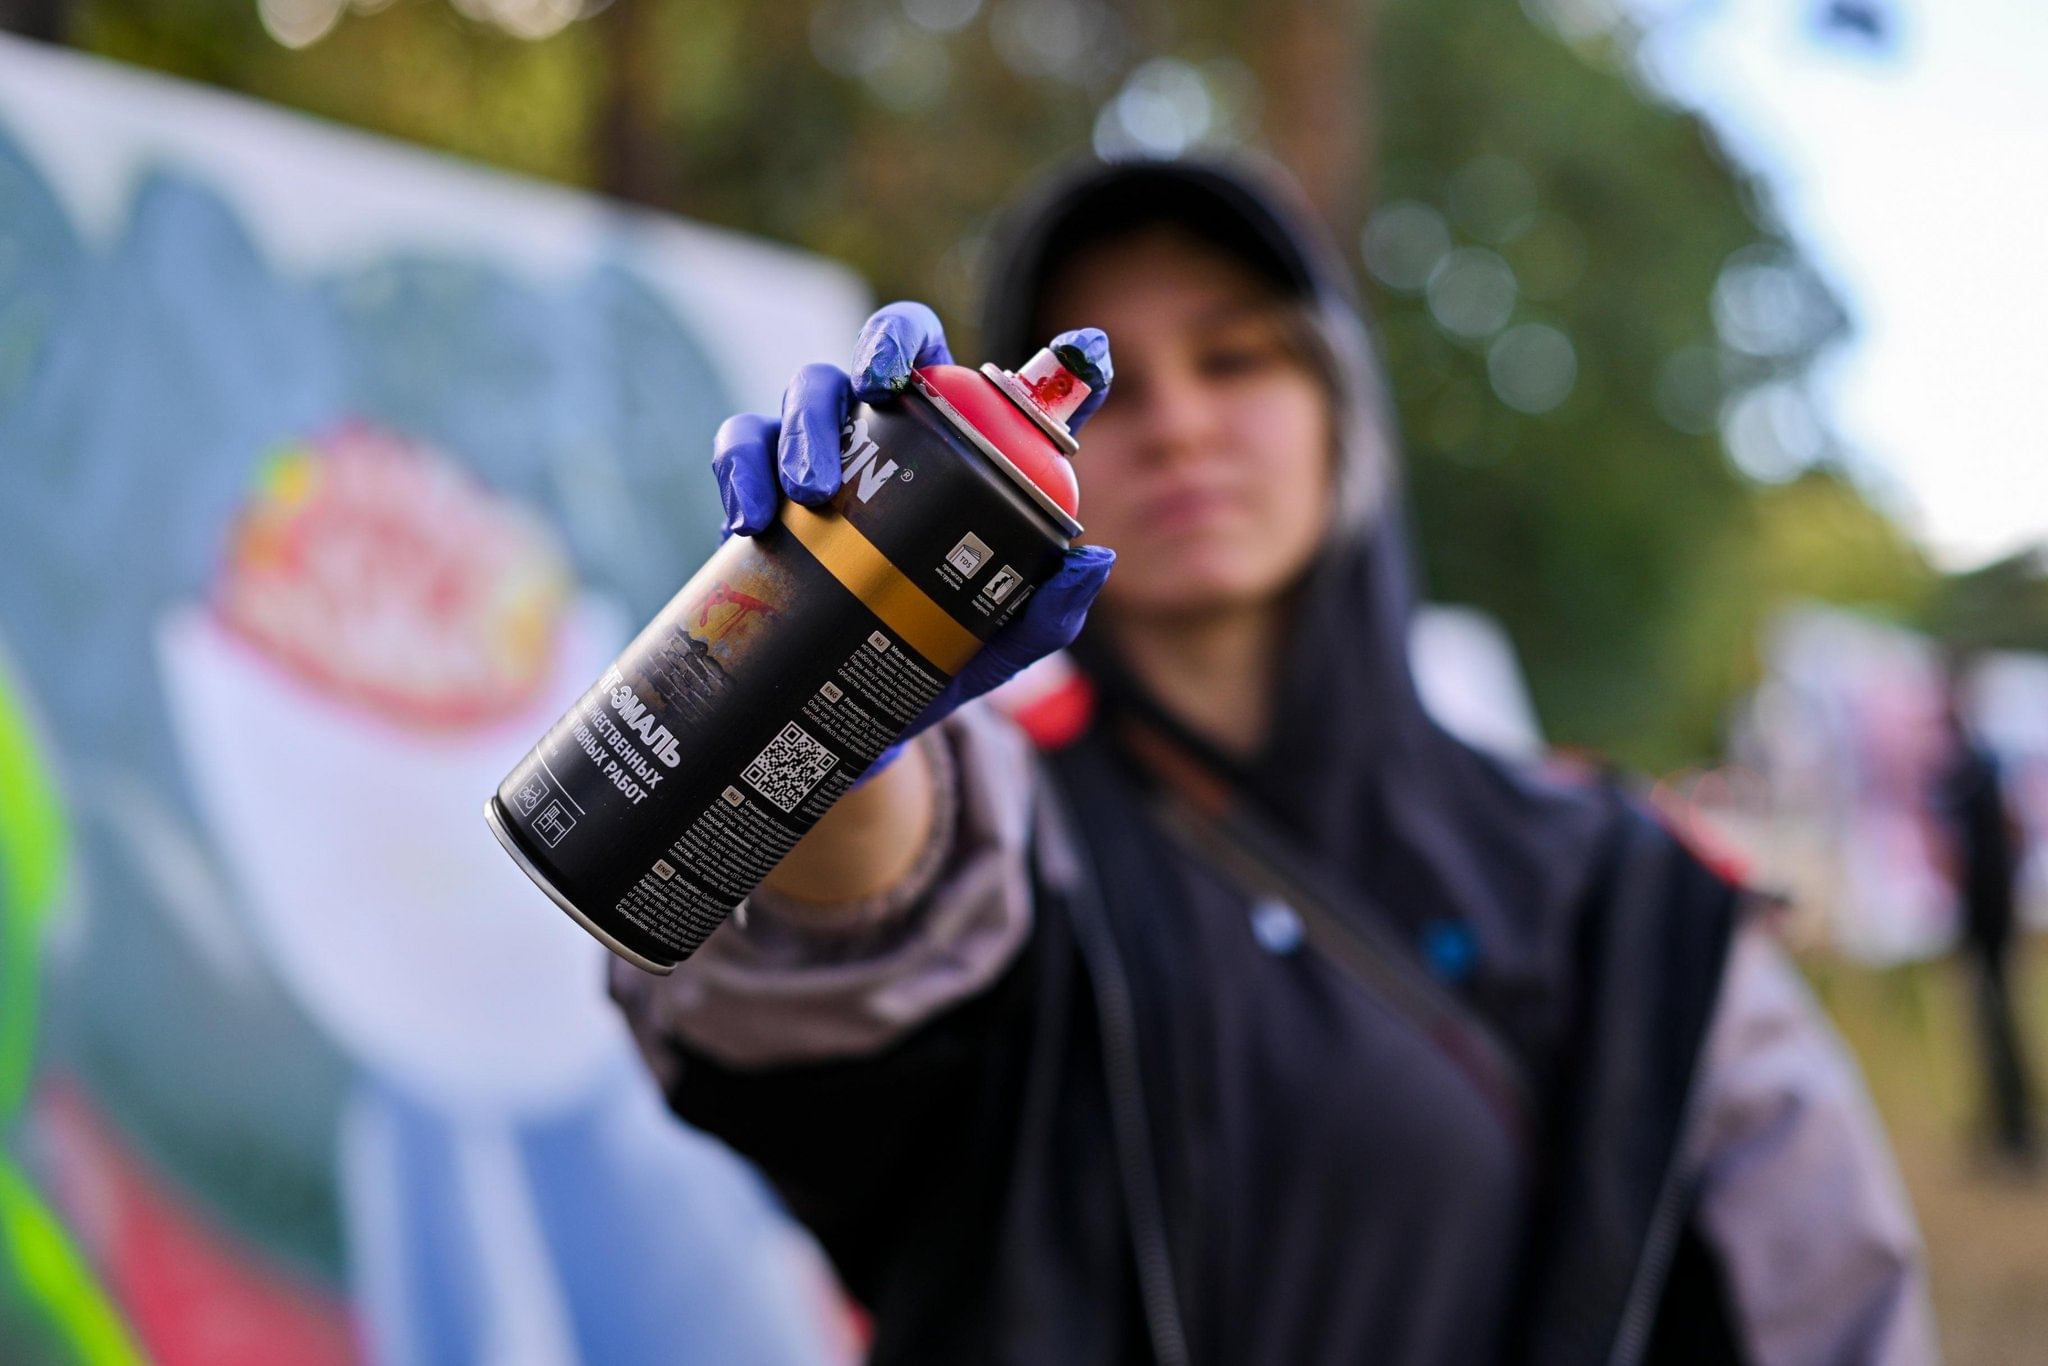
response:
[[[877,1315],[979,1284],[1044,971],[1032,897],[1053,889],[1024,735],[967,707],[918,750],[950,817],[903,887],[756,895],[672,975],[612,967],[670,1108],[754,1161]]]

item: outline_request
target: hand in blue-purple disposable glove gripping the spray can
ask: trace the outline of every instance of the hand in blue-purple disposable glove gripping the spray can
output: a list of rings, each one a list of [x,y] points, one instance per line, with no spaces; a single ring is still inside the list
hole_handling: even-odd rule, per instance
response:
[[[1102,377],[1069,420],[1069,428],[1079,430],[1110,393],[1114,377],[1110,342],[1096,328],[1083,328],[1059,334],[1053,346],[1081,352],[1079,358]],[[834,365],[807,365],[782,391],[780,418],[766,414],[727,418],[711,453],[711,473],[719,481],[719,502],[725,508],[721,539],[764,532],[784,496],[813,508],[827,502],[840,492],[840,428],[854,401],[885,399],[909,385],[913,369],[948,362],[952,352],[946,350],[946,332],[938,315],[922,303],[891,303],[860,328],[852,375]],[[1114,561],[1116,551],[1100,545],[1069,549],[1059,573],[1047,580],[1024,610],[954,674],[909,729],[868,766],[862,780],[881,772],[913,735],[963,702],[1073,643]]]

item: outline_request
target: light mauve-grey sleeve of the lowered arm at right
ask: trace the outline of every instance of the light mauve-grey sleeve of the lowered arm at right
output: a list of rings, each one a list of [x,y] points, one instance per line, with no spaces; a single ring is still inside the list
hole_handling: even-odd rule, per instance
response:
[[[1737,932],[1692,1161],[1755,1366],[1937,1360],[1919,1231],[1862,1077],[1774,934]]]

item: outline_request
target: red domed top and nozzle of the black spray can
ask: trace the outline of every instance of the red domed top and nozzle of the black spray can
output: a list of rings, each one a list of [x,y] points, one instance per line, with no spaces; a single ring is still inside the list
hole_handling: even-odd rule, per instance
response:
[[[1067,418],[1092,389],[1051,348],[1014,373],[995,365],[983,365],[979,373],[961,365],[928,365],[911,379],[1065,535],[1081,532],[1075,520],[1081,489],[1067,463],[1081,446],[1067,430]]]

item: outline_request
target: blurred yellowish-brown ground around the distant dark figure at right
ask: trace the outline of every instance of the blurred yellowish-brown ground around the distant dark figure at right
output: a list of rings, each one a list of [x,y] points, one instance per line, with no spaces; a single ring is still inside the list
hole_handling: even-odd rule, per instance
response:
[[[2036,936],[2023,967],[2040,1100],[2048,1085],[2048,938]],[[1929,963],[1868,973],[1833,961],[1808,961],[1806,969],[1862,1059],[1898,1151],[1927,1235],[1948,1366],[2048,1362],[2048,1169],[2019,1180],[1985,1161],[1962,971]]]

